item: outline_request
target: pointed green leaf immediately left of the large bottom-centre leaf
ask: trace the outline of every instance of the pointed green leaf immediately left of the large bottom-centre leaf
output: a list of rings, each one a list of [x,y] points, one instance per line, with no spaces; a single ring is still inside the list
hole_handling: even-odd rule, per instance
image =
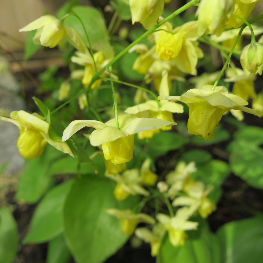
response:
[[[72,181],[50,190],[38,204],[23,244],[43,243],[63,231],[63,206]]]

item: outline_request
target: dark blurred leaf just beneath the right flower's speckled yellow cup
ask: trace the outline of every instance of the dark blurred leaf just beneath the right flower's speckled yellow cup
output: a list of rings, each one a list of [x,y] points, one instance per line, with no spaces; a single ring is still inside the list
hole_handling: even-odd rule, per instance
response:
[[[226,141],[230,138],[229,132],[227,130],[223,130],[221,125],[219,124],[218,127],[215,129],[214,138],[211,140],[205,140],[203,137],[192,136],[191,143],[196,145],[210,145],[215,143],[220,143],[221,141]]]

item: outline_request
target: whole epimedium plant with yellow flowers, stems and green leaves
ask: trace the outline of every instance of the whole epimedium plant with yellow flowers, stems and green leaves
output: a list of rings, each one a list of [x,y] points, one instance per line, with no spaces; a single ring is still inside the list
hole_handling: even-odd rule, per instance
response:
[[[58,46],[70,68],[59,88],[48,88],[52,101],[33,98],[39,113],[0,115],[19,128],[19,153],[32,159],[21,173],[16,199],[39,203],[22,243],[48,242],[48,263],[71,256],[79,263],[104,262],[129,237],[149,243],[157,262],[240,263],[262,257],[253,245],[262,242],[262,215],[225,224],[217,233],[207,217],[230,171],[263,187],[263,129],[242,123],[242,112],[262,116],[263,95],[254,81],[262,74],[263,40],[256,42],[255,35],[263,28],[254,24],[263,16],[246,20],[253,0],[192,0],[163,18],[169,2],[111,1],[115,13],[107,31],[97,9],[71,1],[58,18],[44,15],[20,29],[34,30],[27,48]],[[196,20],[176,21],[196,7]],[[122,19],[140,22],[146,31],[136,27],[129,43],[127,29],[114,34]],[[242,48],[244,35],[251,43]],[[220,72],[189,79],[207,56],[201,42],[219,49],[224,65]],[[242,69],[232,56],[240,56]],[[42,84],[55,78],[52,72],[42,74]],[[252,108],[246,107],[249,99]],[[175,131],[175,121],[187,112],[187,128],[180,122]],[[229,140],[219,123],[228,112],[234,117],[225,118],[238,129],[228,145],[229,164],[199,147]],[[187,150],[192,144],[196,149]],[[157,157],[174,150],[171,164],[156,170]],[[55,183],[56,175],[63,183]],[[0,218],[0,261],[8,263],[16,255],[17,227],[6,207]]]

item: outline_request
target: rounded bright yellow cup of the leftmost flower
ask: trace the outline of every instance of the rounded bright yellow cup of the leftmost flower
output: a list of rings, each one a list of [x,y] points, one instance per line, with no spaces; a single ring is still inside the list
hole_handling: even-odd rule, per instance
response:
[[[43,153],[47,142],[34,128],[20,132],[17,140],[19,153],[27,159],[38,158]]]

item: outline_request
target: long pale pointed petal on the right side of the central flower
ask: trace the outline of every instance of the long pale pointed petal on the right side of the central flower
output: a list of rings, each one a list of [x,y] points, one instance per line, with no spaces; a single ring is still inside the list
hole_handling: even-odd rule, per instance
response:
[[[169,122],[168,120],[159,120],[153,118],[136,118],[127,123],[122,128],[122,131],[125,134],[135,134],[140,131],[160,129],[161,127],[170,127],[171,125],[176,125],[176,123]]]

